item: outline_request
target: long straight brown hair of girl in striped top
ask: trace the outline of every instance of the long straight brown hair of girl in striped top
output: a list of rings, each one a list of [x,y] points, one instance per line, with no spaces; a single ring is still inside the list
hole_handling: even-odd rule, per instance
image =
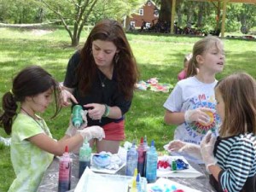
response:
[[[235,73],[218,81],[215,91],[224,100],[221,137],[256,134],[256,81],[247,73]]]

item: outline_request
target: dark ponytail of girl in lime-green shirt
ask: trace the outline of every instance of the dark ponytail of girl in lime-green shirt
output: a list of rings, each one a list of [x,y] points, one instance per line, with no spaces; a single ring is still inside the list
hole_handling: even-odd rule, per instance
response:
[[[3,125],[4,131],[9,135],[11,133],[13,118],[17,114],[16,110],[18,108],[12,90],[3,95],[2,103],[3,114],[0,116],[0,125]]]

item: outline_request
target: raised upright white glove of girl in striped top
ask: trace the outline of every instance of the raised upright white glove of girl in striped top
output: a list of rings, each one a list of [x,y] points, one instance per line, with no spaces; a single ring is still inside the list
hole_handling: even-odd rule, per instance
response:
[[[213,155],[214,144],[216,142],[216,137],[212,134],[212,131],[208,131],[207,135],[203,137],[201,141],[201,156],[202,160],[206,164],[207,172],[209,172],[208,167],[217,164],[217,160]]]

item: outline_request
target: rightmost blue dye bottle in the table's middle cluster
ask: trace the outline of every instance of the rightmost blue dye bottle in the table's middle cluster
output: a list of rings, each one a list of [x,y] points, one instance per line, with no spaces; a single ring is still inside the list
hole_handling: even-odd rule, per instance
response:
[[[148,183],[154,183],[156,181],[157,158],[158,155],[154,147],[154,140],[152,140],[151,147],[147,151],[146,178]]]

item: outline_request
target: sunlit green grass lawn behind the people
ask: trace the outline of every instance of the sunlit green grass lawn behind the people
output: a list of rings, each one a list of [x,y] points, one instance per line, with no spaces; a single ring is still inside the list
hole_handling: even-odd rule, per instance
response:
[[[0,96],[11,89],[11,80],[21,68],[38,64],[55,79],[63,81],[67,61],[78,48],[70,47],[70,39],[64,29],[20,30],[0,28]],[[87,33],[82,34],[81,46]],[[191,52],[200,38],[176,37],[156,34],[127,34],[137,58],[142,80],[158,78],[160,83],[177,83],[177,73],[183,68],[183,56]],[[245,39],[224,39],[226,65],[220,79],[236,71],[245,71],[256,78],[256,42]],[[170,93],[137,90],[131,110],[126,114],[126,140],[132,141],[147,135],[154,139],[159,151],[173,137],[175,126],[165,125],[163,103]],[[2,101],[1,101],[2,102]],[[2,106],[2,103],[1,103]],[[52,109],[42,114],[55,138],[63,136],[67,129],[70,108],[63,108],[55,119],[49,119]],[[8,137],[0,129],[2,137]],[[15,178],[10,162],[9,148],[0,146],[0,191],[7,191]]]

